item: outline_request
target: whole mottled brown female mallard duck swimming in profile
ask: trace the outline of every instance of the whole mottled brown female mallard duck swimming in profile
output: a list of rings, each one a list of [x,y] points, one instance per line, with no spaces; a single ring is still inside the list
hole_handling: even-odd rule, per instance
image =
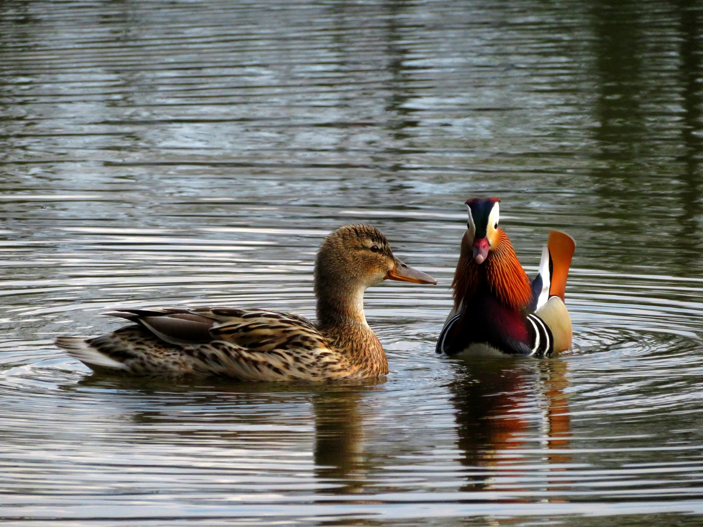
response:
[[[437,283],[396,259],[369,226],[344,226],[321,246],[315,266],[317,323],[244,308],[124,309],[136,325],[56,344],[93,370],[131,375],[219,375],[241,380],[361,379],[388,372],[366,323],[363,292],[386,278]]]

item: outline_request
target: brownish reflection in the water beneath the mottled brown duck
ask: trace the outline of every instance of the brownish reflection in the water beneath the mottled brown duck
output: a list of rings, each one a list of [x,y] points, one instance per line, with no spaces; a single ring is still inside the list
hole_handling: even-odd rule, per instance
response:
[[[372,467],[364,453],[363,399],[385,379],[309,383],[233,383],[216,377],[198,382],[115,377],[93,373],[63,389],[108,393],[117,412],[140,426],[143,441],[155,436],[174,445],[257,450],[310,448],[314,417],[314,476],[321,494],[353,494],[368,484]],[[113,409],[114,410],[114,409]],[[215,441],[216,443],[212,443]],[[273,445],[273,446],[272,446]]]

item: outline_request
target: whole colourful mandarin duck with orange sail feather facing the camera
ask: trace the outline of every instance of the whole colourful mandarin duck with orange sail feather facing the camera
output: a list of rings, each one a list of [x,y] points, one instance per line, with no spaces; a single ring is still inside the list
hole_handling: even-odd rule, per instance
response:
[[[574,241],[552,231],[540,273],[530,281],[508,235],[498,228],[498,200],[467,200],[468,229],[452,287],[454,307],[437,341],[437,353],[548,356],[571,347],[564,304]]]

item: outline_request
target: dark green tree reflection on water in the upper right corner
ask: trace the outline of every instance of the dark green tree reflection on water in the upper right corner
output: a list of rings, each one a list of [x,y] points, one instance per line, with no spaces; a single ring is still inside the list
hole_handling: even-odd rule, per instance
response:
[[[662,223],[674,219],[685,242],[666,260],[684,268],[699,259],[695,233],[703,212],[701,12],[690,0],[650,4],[661,9],[662,33],[676,46],[652,41],[651,12],[641,2],[602,1],[591,11],[597,85],[591,174],[602,216],[617,220],[624,235],[658,229],[670,239],[675,234]],[[677,60],[658,60],[657,46]]]

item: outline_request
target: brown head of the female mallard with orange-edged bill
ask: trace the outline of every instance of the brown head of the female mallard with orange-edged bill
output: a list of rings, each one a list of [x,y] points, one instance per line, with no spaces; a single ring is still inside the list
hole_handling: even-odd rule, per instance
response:
[[[347,286],[366,289],[383,280],[436,284],[397,259],[380,231],[368,225],[345,225],[322,242],[315,262],[315,289]]]

